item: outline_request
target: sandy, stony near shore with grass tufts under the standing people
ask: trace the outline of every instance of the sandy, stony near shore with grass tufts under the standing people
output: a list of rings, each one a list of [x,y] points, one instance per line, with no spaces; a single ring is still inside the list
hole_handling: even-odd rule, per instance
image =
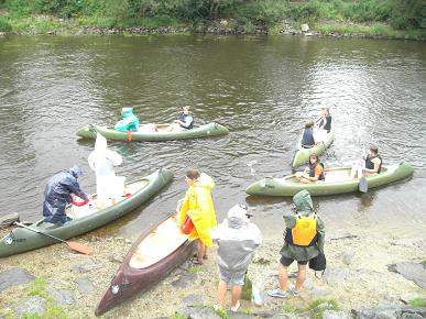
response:
[[[23,268],[35,280],[6,288],[2,285],[0,317],[17,318],[17,314],[23,314],[22,309],[30,300],[31,307],[28,309],[40,314],[40,317],[31,318],[92,318],[96,304],[131,246],[131,241],[88,234],[79,238],[78,242],[92,246],[92,255],[76,254],[66,245],[56,244],[2,258],[0,275]],[[245,314],[244,318],[265,314],[276,318],[282,318],[277,314],[286,314],[284,317],[305,314],[305,318],[309,318],[316,314],[309,312],[313,305],[325,301],[329,308],[324,309],[340,311],[340,316],[349,316],[350,311],[354,314],[364,308],[379,307],[386,311],[400,309],[407,307],[411,300],[415,300],[412,304],[425,306],[425,287],[422,289],[418,283],[389,271],[391,264],[418,264],[425,260],[425,238],[374,235],[368,230],[328,232],[326,273],[323,277],[315,277],[308,271],[301,297],[284,300],[265,295],[267,289],[276,286],[276,260],[281,242],[280,234],[267,237],[256,252],[249,274],[262,292],[264,305],[254,307],[243,301],[240,312]],[[291,282],[294,282],[295,271],[296,266],[292,265]],[[188,309],[214,314],[211,306],[215,305],[216,286],[216,249],[210,249],[209,258],[204,265],[186,262],[153,289],[123,302],[103,318],[186,318]],[[228,318],[226,312],[219,315]]]

